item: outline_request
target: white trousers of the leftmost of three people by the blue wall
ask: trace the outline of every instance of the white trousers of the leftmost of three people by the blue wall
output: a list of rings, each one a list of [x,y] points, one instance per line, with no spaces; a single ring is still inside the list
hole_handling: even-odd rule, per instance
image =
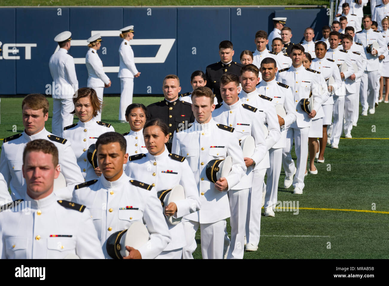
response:
[[[53,98],[53,120],[51,122],[51,133],[61,136],[64,127],[73,124],[74,111],[73,98]]]

